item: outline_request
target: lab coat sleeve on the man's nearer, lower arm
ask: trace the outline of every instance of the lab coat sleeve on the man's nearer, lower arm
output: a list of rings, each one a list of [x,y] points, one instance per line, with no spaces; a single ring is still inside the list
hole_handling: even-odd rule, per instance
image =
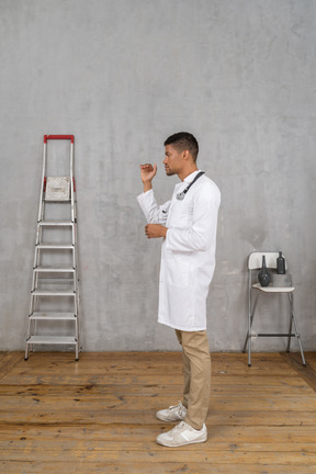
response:
[[[217,188],[203,187],[194,196],[192,226],[169,228],[166,248],[172,251],[206,251],[216,241],[221,194]]]

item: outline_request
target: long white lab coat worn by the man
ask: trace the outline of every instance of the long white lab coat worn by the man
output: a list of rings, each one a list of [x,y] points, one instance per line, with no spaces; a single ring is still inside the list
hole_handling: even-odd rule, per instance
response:
[[[221,193],[205,174],[183,191],[199,171],[176,184],[171,201],[159,206],[154,191],[137,196],[150,224],[168,227],[161,247],[158,321],[174,329],[206,329],[206,297],[215,269],[217,213]]]

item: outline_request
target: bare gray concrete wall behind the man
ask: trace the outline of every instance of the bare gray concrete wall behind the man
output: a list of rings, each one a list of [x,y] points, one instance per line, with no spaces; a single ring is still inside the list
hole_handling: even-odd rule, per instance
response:
[[[157,161],[169,199],[162,143],[182,129],[222,190],[211,350],[241,349],[247,256],[279,249],[315,350],[316,1],[1,0],[0,23],[0,350],[24,349],[44,134],[76,136],[84,350],[177,349],[135,196]],[[264,304],[263,328],[278,315]]]

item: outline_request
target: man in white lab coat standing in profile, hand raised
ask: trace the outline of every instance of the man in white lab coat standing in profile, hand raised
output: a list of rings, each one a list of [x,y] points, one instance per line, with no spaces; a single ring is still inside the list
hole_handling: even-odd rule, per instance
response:
[[[163,421],[180,421],[157,437],[167,447],[207,439],[205,419],[211,390],[211,358],[206,334],[206,297],[215,268],[221,193],[198,169],[199,145],[180,132],[165,142],[167,176],[181,182],[170,201],[159,206],[151,181],[157,165],[140,165],[144,192],[137,196],[148,224],[148,238],[162,237],[158,321],[176,329],[183,350],[184,391],[179,405],[157,413]]]

